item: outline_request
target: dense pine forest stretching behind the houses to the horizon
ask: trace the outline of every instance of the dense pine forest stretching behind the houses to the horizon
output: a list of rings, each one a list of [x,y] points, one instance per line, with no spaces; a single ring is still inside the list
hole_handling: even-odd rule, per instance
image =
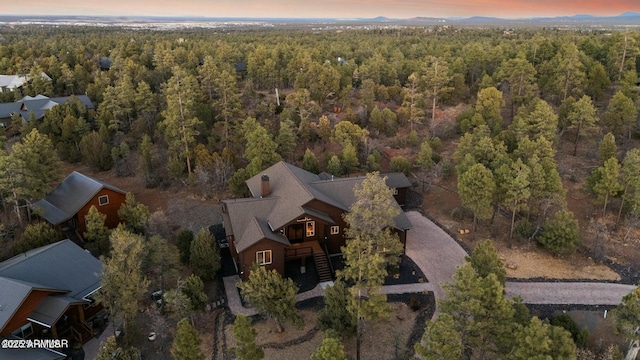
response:
[[[29,204],[65,175],[60,161],[205,198],[246,195],[244,181],[280,160],[337,176],[448,178],[473,234],[502,214],[509,246],[535,240],[558,255],[583,247],[589,221],[567,208],[569,181],[598,206],[596,243],[614,231],[637,242],[637,30],[22,26],[0,35],[0,74],[32,79],[0,101],[86,94],[95,104],[71,100],[0,130],[9,246],[29,234]],[[587,166],[563,167],[559,154]],[[433,336],[452,321],[441,319]],[[552,331],[526,320],[521,331]]]

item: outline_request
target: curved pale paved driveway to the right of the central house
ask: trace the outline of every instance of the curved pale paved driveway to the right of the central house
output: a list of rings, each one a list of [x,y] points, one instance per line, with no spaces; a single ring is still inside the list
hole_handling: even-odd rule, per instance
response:
[[[407,256],[420,267],[432,284],[436,298],[443,298],[443,283],[453,282],[467,253],[444,230],[422,214],[410,211],[413,229],[407,233]],[[509,297],[520,295],[526,304],[617,305],[635,286],[598,282],[511,282]]]

